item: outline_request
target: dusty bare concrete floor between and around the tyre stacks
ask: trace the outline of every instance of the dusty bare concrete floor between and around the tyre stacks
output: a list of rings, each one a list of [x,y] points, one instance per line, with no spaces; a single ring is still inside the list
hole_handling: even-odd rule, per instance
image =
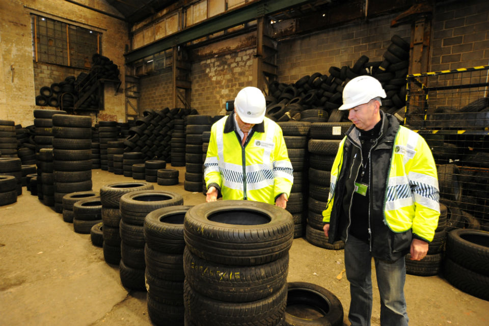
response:
[[[154,188],[182,194],[185,205],[203,203],[202,193],[184,191],[184,168],[177,169],[178,185],[154,183]],[[94,191],[107,183],[133,181],[102,170],[93,170],[92,179]],[[343,268],[343,251],[314,247],[298,238],[290,249],[288,281],[329,289],[339,297],[346,316],[349,292]],[[405,293],[412,325],[489,324],[489,302],[459,291],[442,277],[408,275]],[[374,281],[372,325],[379,325],[379,310]],[[0,325],[136,324],[151,324],[146,292],[122,287],[119,267],[105,263],[89,234],[73,232],[72,224],[25,187],[17,203],[0,207]]]

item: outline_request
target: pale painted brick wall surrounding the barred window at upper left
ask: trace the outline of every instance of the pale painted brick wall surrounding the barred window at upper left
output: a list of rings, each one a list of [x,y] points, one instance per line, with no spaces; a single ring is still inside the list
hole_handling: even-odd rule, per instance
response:
[[[118,12],[104,0],[80,0],[97,9],[113,13]],[[33,123],[33,110],[42,108],[35,105],[35,94],[39,92],[35,82],[35,69],[32,55],[32,34],[30,9],[38,13],[52,15],[53,19],[61,17],[102,30],[102,54],[111,58],[121,69],[124,76],[124,46],[129,44],[128,26],[122,20],[112,18],[95,11],[68,3],[64,0],[3,0],[0,1],[0,119],[14,120],[17,124],[27,126]],[[41,69],[37,67],[37,69]],[[52,79],[57,76],[52,70]],[[71,74],[67,72],[64,75]],[[49,80],[48,76],[42,76]],[[50,84],[49,84],[50,85]],[[121,87],[122,90],[122,87]],[[125,121],[124,95],[114,95],[114,87],[105,89],[106,116]],[[102,112],[101,112],[102,113]],[[94,116],[94,115],[92,115]],[[93,117],[96,121],[96,118]]]

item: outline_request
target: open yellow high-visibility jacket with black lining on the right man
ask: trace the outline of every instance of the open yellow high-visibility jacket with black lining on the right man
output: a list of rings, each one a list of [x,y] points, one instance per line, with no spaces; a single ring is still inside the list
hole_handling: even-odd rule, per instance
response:
[[[369,233],[374,257],[393,260],[409,250],[412,237],[433,239],[440,215],[438,176],[425,140],[391,115],[382,116],[383,131],[370,152]],[[322,212],[323,222],[330,223],[330,242],[347,239],[350,211],[345,207],[351,203],[361,157],[358,129],[352,127],[339,145]]]

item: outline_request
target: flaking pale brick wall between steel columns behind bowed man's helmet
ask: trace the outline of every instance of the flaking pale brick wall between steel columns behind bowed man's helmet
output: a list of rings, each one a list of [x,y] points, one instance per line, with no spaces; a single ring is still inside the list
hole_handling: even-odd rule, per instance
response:
[[[192,107],[199,114],[224,115],[227,100],[252,86],[255,49],[241,50],[192,65]]]

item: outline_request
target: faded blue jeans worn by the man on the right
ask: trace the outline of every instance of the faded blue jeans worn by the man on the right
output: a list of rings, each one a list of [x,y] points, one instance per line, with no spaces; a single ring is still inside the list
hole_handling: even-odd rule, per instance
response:
[[[404,299],[404,257],[395,262],[374,258],[374,262],[381,296],[381,325],[407,326],[409,318]],[[369,326],[372,315],[372,256],[369,244],[351,234],[348,234],[345,243],[345,269],[351,296],[348,320],[352,326]]]

